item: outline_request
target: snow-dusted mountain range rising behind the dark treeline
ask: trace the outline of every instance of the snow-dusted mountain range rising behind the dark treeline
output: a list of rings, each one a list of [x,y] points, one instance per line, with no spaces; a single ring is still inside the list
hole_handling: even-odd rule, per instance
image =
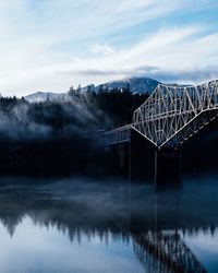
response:
[[[130,88],[132,93],[147,93],[150,94],[160,82],[149,79],[149,78],[129,78],[120,81],[112,81],[95,86],[94,84],[87,85],[81,88],[81,92],[99,92],[100,90],[123,90]],[[25,98],[33,102],[45,102],[49,100],[68,100],[68,93],[52,93],[52,92],[36,92],[34,94],[25,96]]]

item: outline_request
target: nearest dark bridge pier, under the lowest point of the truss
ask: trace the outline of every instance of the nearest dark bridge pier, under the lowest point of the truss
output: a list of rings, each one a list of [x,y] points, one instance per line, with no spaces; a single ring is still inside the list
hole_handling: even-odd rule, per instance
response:
[[[155,186],[177,187],[180,185],[181,152],[174,149],[155,151]]]

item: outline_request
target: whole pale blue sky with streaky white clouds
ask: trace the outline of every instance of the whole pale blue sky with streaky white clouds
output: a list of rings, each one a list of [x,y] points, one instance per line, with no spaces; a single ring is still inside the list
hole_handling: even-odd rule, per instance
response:
[[[218,79],[218,0],[2,0],[0,93]]]

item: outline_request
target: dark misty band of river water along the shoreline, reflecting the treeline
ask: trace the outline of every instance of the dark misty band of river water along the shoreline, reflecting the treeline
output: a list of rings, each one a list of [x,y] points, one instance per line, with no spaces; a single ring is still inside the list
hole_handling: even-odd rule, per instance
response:
[[[11,230],[28,215],[35,223],[56,225],[69,233],[208,232],[218,226],[217,181],[218,177],[185,178],[180,189],[155,192],[152,183],[130,185],[114,179],[2,178],[0,218]]]

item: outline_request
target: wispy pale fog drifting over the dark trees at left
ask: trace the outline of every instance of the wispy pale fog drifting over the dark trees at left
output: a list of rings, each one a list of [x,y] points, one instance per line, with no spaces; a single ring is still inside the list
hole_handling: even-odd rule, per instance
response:
[[[0,138],[12,140],[90,136],[111,126],[109,117],[86,95],[45,103],[2,98],[0,116]]]

